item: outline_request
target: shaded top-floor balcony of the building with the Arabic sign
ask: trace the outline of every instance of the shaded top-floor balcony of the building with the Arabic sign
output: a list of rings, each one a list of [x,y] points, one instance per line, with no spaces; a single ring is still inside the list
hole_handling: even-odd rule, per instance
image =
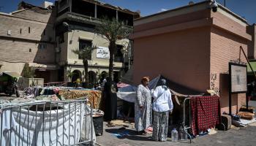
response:
[[[62,3],[63,6],[59,4],[57,23],[70,20],[96,26],[100,23],[101,18],[108,17],[116,18],[123,22],[125,27],[132,28],[133,19],[140,17],[138,12],[94,0],[62,0]]]

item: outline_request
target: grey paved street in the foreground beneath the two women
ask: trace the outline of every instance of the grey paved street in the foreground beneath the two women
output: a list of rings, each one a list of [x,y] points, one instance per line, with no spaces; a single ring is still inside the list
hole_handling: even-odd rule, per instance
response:
[[[151,134],[138,136],[135,129],[119,130],[121,126],[108,128],[104,126],[103,136],[97,136],[97,144],[101,146],[153,146],[153,145],[256,145],[256,123],[252,123],[244,128],[233,127],[228,131],[217,131],[217,134],[206,135],[192,139],[192,143],[184,142],[154,142],[151,141]],[[129,136],[117,138],[114,134],[129,134]]]

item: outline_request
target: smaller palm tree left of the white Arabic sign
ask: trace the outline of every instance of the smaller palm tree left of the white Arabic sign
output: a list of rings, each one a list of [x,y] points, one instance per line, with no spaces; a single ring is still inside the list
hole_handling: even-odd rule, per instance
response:
[[[80,58],[83,59],[83,68],[85,72],[85,79],[86,82],[89,81],[89,75],[88,75],[88,60],[91,59],[91,53],[96,47],[94,46],[85,46],[81,50],[72,50],[73,53],[77,54]]]

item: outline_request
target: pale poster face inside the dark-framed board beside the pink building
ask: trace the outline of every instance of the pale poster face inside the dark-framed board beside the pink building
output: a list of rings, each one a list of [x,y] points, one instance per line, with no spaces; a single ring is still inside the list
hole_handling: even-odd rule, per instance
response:
[[[231,93],[247,91],[246,70],[246,66],[230,64]]]

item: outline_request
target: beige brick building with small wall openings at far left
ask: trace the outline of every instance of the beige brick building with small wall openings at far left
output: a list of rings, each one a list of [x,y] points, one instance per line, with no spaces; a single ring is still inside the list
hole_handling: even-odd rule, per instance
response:
[[[55,56],[54,12],[21,2],[18,10],[0,13],[0,72],[18,72],[29,63],[36,77],[58,80]]]

